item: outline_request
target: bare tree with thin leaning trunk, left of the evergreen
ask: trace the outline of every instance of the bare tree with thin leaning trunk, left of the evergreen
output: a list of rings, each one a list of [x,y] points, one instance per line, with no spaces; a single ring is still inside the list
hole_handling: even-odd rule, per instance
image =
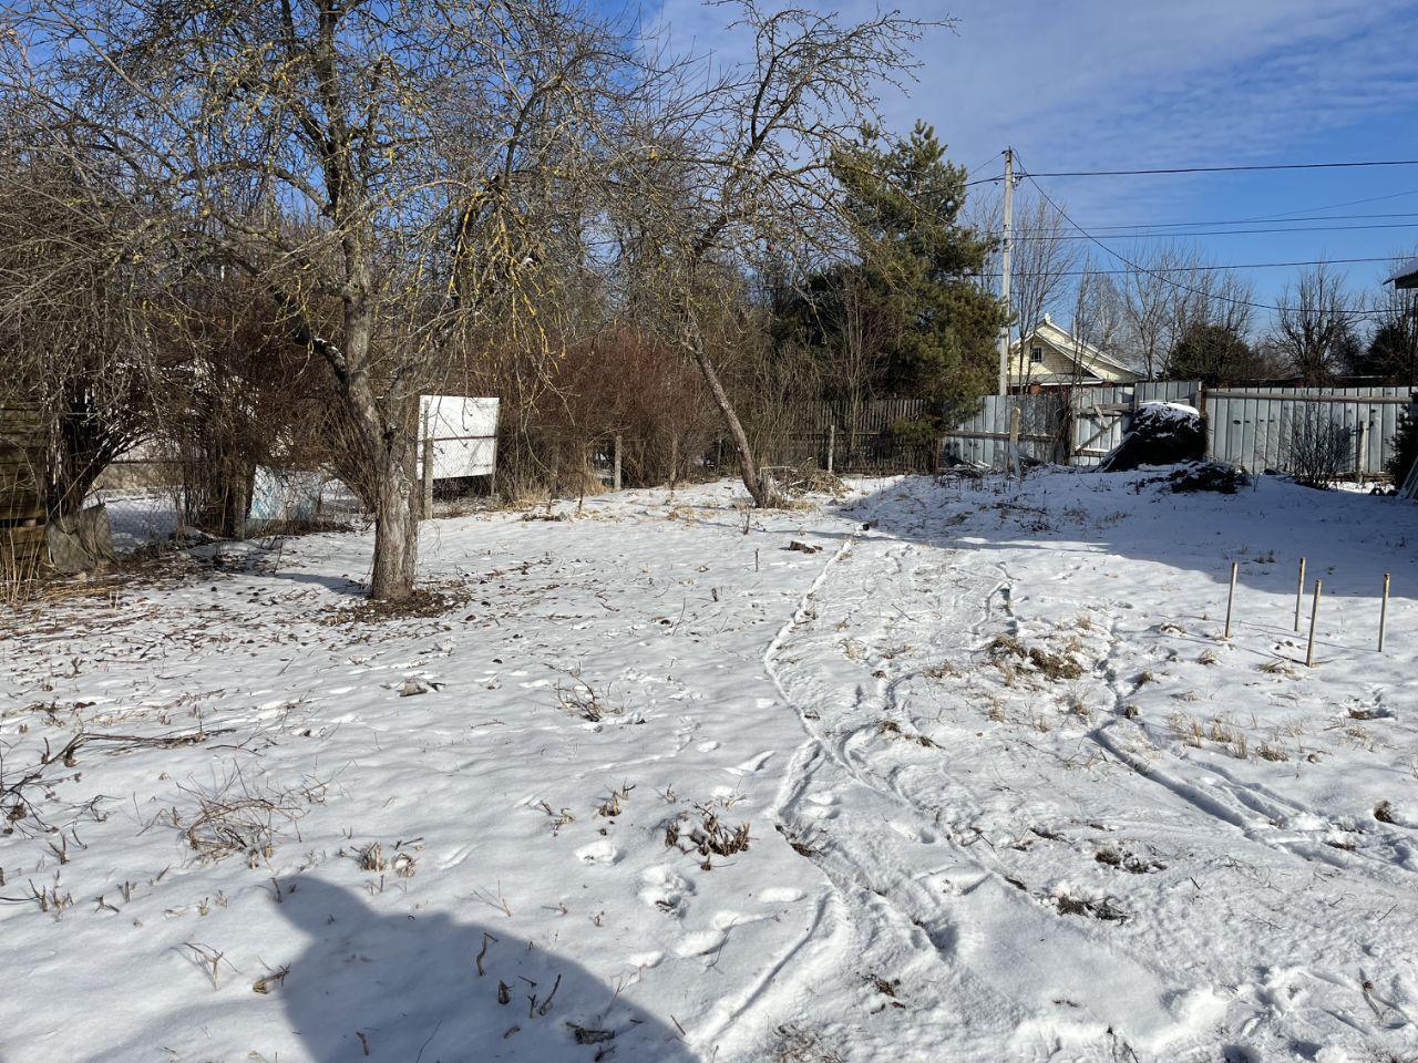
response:
[[[757,0],[739,11],[733,31],[752,38],[752,60],[658,115],[634,203],[659,265],[662,330],[703,374],[754,505],[773,506],[778,489],[706,344],[715,278],[753,272],[766,248],[845,249],[828,156],[872,122],[876,91],[912,67],[923,24],[895,11],[852,24]]]

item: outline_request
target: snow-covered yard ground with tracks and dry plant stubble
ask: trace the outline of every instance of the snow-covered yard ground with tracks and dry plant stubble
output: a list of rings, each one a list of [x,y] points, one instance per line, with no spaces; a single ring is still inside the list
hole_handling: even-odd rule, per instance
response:
[[[425,615],[350,533],[6,621],[0,1059],[1418,1054],[1418,506],[573,510]]]

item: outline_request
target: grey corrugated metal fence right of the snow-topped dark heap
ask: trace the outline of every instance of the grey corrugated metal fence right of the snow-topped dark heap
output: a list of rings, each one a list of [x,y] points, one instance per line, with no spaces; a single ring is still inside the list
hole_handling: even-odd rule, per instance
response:
[[[1211,454],[1252,472],[1285,469],[1296,424],[1319,417],[1351,432],[1354,459],[1346,472],[1375,475],[1392,456],[1392,438],[1411,401],[1409,387],[1218,388],[1207,394]]]

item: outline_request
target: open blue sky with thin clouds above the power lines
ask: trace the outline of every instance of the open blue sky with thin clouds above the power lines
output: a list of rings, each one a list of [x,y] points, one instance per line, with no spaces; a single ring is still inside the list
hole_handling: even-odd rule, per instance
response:
[[[1418,0],[899,6],[959,23],[927,35],[919,84],[910,96],[889,94],[883,109],[903,129],[916,118],[932,122],[951,157],[984,164],[981,173],[1000,164],[993,156],[1005,145],[1041,173],[1418,159]],[[856,0],[839,7],[848,17],[872,10]],[[732,55],[722,30],[732,9],[666,0],[659,14],[676,44]],[[1102,227],[1134,223],[1412,215],[1295,223],[1394,228],[1197,238],[1225,264],[1387,257],[1418,245],[1418,166],[1041,183],[1085,228],[1100,227],[1099,235]],[[1126,254],[1139,241],[1105,242]],[[1384,272],[1381,264],[1347,269],[1360,288]],[[1275,302],[1293,272],[1252,271],[1258,296]]]

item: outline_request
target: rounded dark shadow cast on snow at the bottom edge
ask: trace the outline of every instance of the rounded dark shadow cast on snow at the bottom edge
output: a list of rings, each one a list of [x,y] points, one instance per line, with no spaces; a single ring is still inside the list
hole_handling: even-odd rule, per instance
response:
[[[698,1059],[586,968],[501,927],[380,913],[319,879],[292,880],[279,910],[311,938],[281,995],[312,1063]]]

